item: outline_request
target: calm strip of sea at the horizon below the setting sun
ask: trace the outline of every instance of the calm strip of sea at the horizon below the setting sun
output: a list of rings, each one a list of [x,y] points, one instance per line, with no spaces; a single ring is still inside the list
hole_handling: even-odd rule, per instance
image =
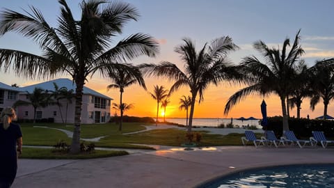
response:
[[[159,118],[160,122],[163,122],[163,118]],[[180,125],[186,125],[186,118],[166,118],[166,121],[170,123],[177,123]],[[260,120],[237,120],[233,119],[232,124],[239,125],[240,127],[242,125],[255,125],[256,127],[262,128],[261,125],[259,125]],[[231,118],[193,118],[193,126],[208,126],[208,127],[217,127],[221,124],[227,125],[231,123]]]

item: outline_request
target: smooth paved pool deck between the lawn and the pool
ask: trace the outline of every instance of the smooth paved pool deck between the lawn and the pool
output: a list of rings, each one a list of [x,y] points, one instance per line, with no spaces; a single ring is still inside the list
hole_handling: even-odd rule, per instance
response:
[[[263,166],[334,164],[334,147],[161,147],[100,159],[19,159],[17,187],[196,187],[212,178]]]

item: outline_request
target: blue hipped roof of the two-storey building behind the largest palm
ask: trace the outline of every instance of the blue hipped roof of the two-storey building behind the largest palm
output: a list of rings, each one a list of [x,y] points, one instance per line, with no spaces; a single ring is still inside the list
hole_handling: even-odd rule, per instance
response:
[[[67,90],[73,90],[75,93],[75,88],[77,88],[77,85],[70,79],[66,79],[66,78],[61,78],[61,79],[54,79],[54,80],[50,80],[50,81],[45,81],[42,82],[40,84],[33,84],[31,86],[25,86],[22,88],[19,88],[21,92],[26,92],[28,91],[29,93],[33,93],[33,90],[35,88],[42,88],[44,90],[48,90],[48,91],[54,91],[54,83],[56,83],[58,85],[59,88],[61,87],[65,87],[67,88]],[[101,93],[98,93],[97,91],[94,91],[93,89],[87,88],[86,86],[84,86],[84,94],[86,95],[94,95],[96,97],[103,97],[109,100],[113,100],[111,97],[108,97],[106,95],[103,95]]]

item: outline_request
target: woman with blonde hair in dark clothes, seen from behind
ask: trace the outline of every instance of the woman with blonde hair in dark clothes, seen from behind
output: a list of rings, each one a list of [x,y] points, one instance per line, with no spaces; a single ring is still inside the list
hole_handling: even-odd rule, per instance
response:
[[[22,132],[13,108],[1,111],[0,123],[0,188],[10,187],[17,172],[17,152],[22,154]],[[17,146],[17,147],[16,147]]]

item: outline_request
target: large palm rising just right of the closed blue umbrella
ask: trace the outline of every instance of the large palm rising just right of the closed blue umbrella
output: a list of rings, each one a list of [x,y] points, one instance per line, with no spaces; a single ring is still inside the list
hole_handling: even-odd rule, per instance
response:
[[[262,63],[255,56],[247,56],[240,63],[240,70],[243,72],[244,81],[248,86],[234,93],[225,104],[225,114],[230,109],[243,100],[246,96],[259,93],[261,95],[269,95],[275,93],[280,97],[280,103],[283,113],[283,131],[289,130],[287,106],[285,100],[294,87],[294,68],[296,62],[303,54],[303,49],[299,45],[299,33],[296,34],[294,43],[290,51],[287,53],[287,47],[290,46],[289,38],[283,42],[282,51],[280,49],[269,48],[261,40],[255,42],[254,48],[264,56]]]

